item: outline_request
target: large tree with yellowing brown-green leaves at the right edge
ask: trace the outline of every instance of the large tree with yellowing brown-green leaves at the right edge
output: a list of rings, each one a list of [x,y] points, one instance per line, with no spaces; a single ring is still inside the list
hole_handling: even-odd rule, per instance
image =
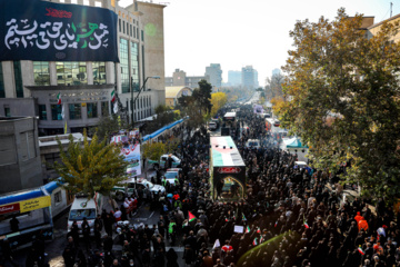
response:
[[[274,109],[283,127],[301,136],[319,168],[359,182],[362,194],[400,197],[400,47],[398,23],[383,23],[367,39],[362,16],[343,9],[333,21],[299,21],[290,36],[294,50],[284,67],[284,95]]]

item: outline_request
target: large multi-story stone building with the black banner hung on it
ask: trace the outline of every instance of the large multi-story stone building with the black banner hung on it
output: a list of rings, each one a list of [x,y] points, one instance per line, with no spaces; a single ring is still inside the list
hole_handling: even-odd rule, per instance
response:
[[[102,116],[112,112],[111,100],[114,90],[128,118],[133,113],[133,120],[137,121],[151,116],[154,107],[163,103],[166,98],[166,6],[136,2],[128,8],[121,8],[116,0],[52,2],[63,3],[59,6],[61,9],[76,4],[114,12],[118,16],[117,32],[113,33],[117,37],[114,41],[119,62],[82,61],[79,57],[77,61],[2,61],[0,116],[37,116],[40,135],[63,134],[66,123],[68,132],[81,132],[83,128],[96,126]],[[141,91],[148,77],[160,78],[149,79]],[[58,96],[61,97],[61,105],[58,105]],[[129,105],[132,96],[133,99],[137,98],[137,102]]]

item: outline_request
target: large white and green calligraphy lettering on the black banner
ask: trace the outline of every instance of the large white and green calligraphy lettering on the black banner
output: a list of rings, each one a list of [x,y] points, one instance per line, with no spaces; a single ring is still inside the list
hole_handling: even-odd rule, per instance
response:
[[[4,44],[9,50],[16,48],[37,47],[48,49],[50,46],[57,50],[66,48],[97,50],[100,47],[108,47],[108,26],[100,23],[80,23],[76,27],[73,23],[44,22],[38,24],[34,20],[11,19],[6,22],[8,27],[4,37]]]

